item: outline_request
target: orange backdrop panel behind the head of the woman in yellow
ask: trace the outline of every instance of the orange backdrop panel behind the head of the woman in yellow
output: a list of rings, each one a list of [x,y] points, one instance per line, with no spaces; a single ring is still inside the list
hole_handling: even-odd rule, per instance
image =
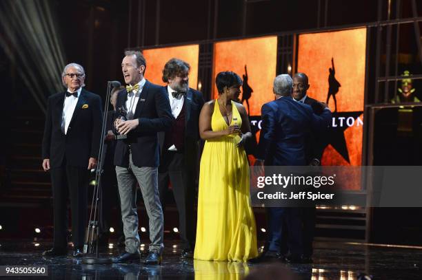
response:
[[[260,116],[262,105],[274,100],[272,82],[276,76],[276,66],[277,36],[215,43],[212,96],[218,96],[215,76],[223,71],[236,72],[244,84],[239,99],[250,116]]]

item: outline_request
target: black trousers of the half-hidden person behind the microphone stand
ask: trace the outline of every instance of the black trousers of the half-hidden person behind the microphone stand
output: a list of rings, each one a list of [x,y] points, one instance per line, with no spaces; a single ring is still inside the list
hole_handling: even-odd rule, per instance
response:
[[[112,166],[114,167],[114,166]],[[123,235],[123,223],[121,222],[121,208],[119,188],[117,186],[116,169],[104,169],[101,174],[100,189],[100,206],[99,206],[99,237],[104,241],[110,237],[111,210],[114,206],[117,208],[117,225],[114,233],[117,237]]]

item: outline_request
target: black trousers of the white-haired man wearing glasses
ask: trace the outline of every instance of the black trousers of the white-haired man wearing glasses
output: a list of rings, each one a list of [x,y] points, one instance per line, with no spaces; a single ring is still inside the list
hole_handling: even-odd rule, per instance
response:
[[[67,247],[68,196],[72,213],[72,242],[74,248],[82,248],[85,241],[88,208],[88,169],[77,166],[61,166],[50,170],[53,212],[54,248]]]

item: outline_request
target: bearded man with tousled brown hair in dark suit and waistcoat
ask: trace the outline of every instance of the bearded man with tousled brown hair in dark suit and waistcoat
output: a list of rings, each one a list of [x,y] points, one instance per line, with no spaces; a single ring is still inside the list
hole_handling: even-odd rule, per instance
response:
[[[192,258],[195,242],[195,178],[199,152],[199,113],[203,106],[201,92],[189,87],[190,65],[177,58],[165,63],[163,91],[168,95],[172,115],[176,119],[172,129],[159,133],[160,166],[159,193],[161,205],[169,181],[179,211],[179,233],[183,258]]]

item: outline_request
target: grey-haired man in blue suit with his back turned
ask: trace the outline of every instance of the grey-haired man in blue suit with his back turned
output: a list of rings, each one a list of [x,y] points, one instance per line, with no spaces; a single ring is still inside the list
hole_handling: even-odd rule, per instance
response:
[[[292,78],[279,75],[274,80],[276,100],[266,103],[261,109],[261,135],[257,153],[257,165],[305,166],[308,165],[307,141],[312,131],[319,131],[328,124],[331,112],[324,109],[321,116],[313,114],[312,108],[294,100]],[[278,244],[287,231],[287,261],[301,261],[303,240],[300,208],[267,208],[268,251],[282,250]],[[285,238],[285,237],[283,237]],[[284,253],[284,252],[283,252]]]

